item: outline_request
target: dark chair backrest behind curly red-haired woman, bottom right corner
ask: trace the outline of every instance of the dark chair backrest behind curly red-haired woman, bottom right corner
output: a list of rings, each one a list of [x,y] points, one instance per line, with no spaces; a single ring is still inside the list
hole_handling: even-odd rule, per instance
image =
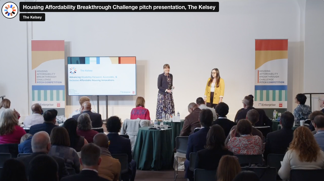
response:
[[[317,170],[302,170],[291,169],[290,181],[305,181],[305,180],[320,180],[323,177],[324,169]]]

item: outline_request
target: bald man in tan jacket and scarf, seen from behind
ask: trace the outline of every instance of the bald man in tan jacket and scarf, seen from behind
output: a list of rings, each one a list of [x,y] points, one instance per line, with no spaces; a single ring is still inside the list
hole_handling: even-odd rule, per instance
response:
[[[98,133],[93,138],[93,143],[100,147],[101,164],[99,165],[98,175],[112,181],[118,181],[121,164],[119,160],[114,159],[108,148],[109,139],[105,133]],[[82,169],[82,166],[81,166]]]

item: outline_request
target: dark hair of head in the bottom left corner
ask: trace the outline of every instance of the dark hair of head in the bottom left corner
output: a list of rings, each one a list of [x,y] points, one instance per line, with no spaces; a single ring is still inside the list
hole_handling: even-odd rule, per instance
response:
[[[27,181],[25,170],[24,163],[10,158],[3,164],[0,181]]]

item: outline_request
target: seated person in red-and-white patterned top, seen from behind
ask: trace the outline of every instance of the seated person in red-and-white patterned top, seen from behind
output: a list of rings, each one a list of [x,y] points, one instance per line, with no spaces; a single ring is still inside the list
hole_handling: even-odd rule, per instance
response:
[[[230,139],[227,143],[228,150],[234,154],[262,154],[263,141],[259,136],[252,135],[251,122],[247,119],[241,119],[236,128],[230,132]],[[241,137],[235,137],[236,130]]]

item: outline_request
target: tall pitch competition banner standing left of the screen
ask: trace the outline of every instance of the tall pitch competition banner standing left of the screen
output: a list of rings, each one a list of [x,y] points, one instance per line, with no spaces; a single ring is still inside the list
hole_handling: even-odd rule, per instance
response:
[[[43,110],[56,109],[64,114],[65,107],[64,40],[31,40],[32,104]]]

